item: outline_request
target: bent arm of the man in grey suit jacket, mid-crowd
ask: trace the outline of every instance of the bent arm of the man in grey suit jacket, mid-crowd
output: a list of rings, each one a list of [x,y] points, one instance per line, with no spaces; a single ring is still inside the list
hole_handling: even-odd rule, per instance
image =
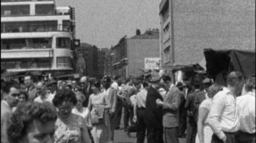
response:
[[[180,94],[179,91],[175,91],[172,93],[173,98],[172,100],[167,100],[163,102],[163,109],[171,110],[171,111],[176,111],[179,109],[180,105]],[[171,96],[171,95],[169,95]]]

